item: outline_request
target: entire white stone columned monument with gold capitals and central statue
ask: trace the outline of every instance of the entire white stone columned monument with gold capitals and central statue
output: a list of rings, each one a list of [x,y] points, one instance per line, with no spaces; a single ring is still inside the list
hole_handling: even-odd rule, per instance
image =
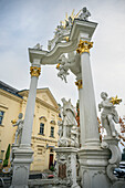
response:
[[[91,71],[90,50],[93,48],[91,42],[97,23],[88,20],[91,15],[86,8],[82,13],[72,13],[56,28],[55,36],[49,41],[48,50],[42,50],[40,44],[29,49],[29,59],[31,62],[31,85],[27,104],[22,138],[20,147],[17,149],[13,160],[12,187],[28,187],[30,164],[32,161],[31,133],[33,124],[33,113],[35,104],[35,93],[38,79],[41,71],[41,64],[58,64],[58,76],[67,82],[69,70],[76,76],[75,85],[79,90],[80,100],[80,132],[81,148],[77,149],[76,125],[69,123],[69,116],[73,117],[70,101],[63,100],[64,109],[62,111],[62,123],[59,123],[60,140],[56,148],[59,184],[65,184],[72,187],[79,187],[76,181],[76,156],[80,163],[81,187],[83,188],[111,188],[116,185],[113,175],[114,165],[118,164],[121,153],[115,138],[114,121],[117,122],[117,113],[112,107],[115,116],[106,115],[110,126],[105,124],[104,113],[102,113],[103,125],[107,130],[105,143],[102,144],[98,134],[98,123],[93,87],[93,77]],[[103,96],[104,98],[105,96]],[[108,101],[108,100],[107,100]],[[65,103],[70,107],[65,107]],[[100,105],[103,107],[104,102]],[[64,113],[65,108],[66,114]],[[113,130],[113,132],[112,132]],[[71,135],[69,136],[69,133]],[[64,139],[65,138],[65,139]],[[75,139],[75,142],[74,142]],[[104,147],[106,146],[106,147]],[[116,148],[116,158],[114,155]],[[112,157],[111,157],[112,153]],[[67,165],[69,164],[69,165]],[[58,171],[59,170],[59,171]],[[20,178],[21,177],[21,178]]]

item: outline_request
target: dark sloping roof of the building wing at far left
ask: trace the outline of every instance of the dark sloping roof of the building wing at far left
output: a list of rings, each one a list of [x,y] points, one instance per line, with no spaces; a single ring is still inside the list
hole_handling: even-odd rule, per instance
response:
[[[17,88],[6,84],[2,81],[0,81],[0,88],[4,90],[6,92],[11,93],[11,94],[13,94],[15,96],[19,96],[20,98],[22,98],[22,96],[20,94],[18,94],[19,91]]]

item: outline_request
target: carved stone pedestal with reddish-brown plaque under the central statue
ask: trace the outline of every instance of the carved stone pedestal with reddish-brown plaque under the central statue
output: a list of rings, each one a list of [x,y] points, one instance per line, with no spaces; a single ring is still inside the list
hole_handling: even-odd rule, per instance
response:
[[[77,149],[73,147],[59,147],[56,152],[55,184],[72,188],[80,188],[77,185]]]

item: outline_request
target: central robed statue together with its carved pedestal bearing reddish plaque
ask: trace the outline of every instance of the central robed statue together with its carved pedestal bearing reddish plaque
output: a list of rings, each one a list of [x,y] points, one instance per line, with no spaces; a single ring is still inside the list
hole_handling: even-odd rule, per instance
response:
[[[75,119],[74,107],[71,100],[62,98],[60,106],[61,118],[59,122],[59,148],[56,152],[55,184],[59,186],[79,188],[77,185],[77,149],[79,127]]]

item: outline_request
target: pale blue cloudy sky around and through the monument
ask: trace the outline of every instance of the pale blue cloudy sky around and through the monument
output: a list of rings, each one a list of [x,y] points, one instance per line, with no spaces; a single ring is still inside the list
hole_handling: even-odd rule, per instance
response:
[[[70,15],[87,7],[91,21],[98,23],[92,41],[91,64],[96,103],[100,93],[116,94],[123,98],[117,107],[125,115],[125,1],[124,0],[0,0],[0,80],[18,90],[29,88],[30,63],[28,48],[48,40],[65,12]],[[55,65],[42,66],[39,87],[50,87],[58,102],[71,98],[75,105],[77,90],[75,77],[67,77],[67,84],[58,76]]]

